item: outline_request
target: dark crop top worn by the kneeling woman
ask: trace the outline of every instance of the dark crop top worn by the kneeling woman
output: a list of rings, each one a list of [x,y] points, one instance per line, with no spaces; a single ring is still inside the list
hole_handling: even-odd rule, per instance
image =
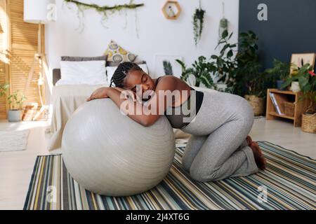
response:
[[[156,86],[160,78],[162,77],[157,78]],[[168,118],[171,126],[180,129],[190,124],[202,106],[203,97],[203,92],[197,91],[191,87],[190,95],[183,104],[176,107],[169,106],[164,112],[164,115]]]

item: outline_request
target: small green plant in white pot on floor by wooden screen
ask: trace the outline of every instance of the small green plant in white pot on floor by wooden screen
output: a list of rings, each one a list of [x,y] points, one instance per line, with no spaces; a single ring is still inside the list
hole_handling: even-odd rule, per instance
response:
[[[25,102],[25,95],[20,94],[18,91],[13,92],[13,94],[8,95],[8,122],[18,122],[22,118],[22,104]]]

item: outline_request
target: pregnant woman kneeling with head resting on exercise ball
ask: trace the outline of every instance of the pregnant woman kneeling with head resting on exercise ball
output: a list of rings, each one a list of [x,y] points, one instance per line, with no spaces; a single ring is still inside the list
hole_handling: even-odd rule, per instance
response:
[[[192,134],[182,164],[196,181],[248,176],[265,169],[261,149],[248,136],[254,113],[242,97],[197,91],[174,76],[152,79],[132,62],[119,64],[110,87],[99,88],[87,101],[107,97],[140,125],[150,126],[166,116],[172,127]],[[151,113],[136,113],[137,108]]]

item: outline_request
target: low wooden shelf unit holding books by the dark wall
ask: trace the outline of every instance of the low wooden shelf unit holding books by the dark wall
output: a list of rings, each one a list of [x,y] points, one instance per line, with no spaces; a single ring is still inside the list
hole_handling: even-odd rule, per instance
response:
[[[275,106],[272,104],[272,100],[270,98],[270,92],[275,94],[275,98],[277,99],[277,104],[279,105],[279,109],[282,113],[284,113],[284,102],[294,102],[295,110],[294,116],[286,116],[285,114],[280,115],[275,111]],[[302,123],[302,114],[308,108],[308,101],[306,99],[301,99],[303,96],[302,92],[292,92],[289,90],[277,90],[277,89],[268,89],[267,94],[267,110],[265,117],[267,120],[274,120],[277,118],[285,118],[288,120],[293,120],[294,126],[299,127]]]

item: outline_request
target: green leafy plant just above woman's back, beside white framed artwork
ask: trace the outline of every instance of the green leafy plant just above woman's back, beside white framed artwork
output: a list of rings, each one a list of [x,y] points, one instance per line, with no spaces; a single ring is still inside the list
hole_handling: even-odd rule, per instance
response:
[[[211,62],[206,60],[206,57],[200,56],[192,64],[192,68],[187,68],[185,63],[179,59],[176,60],[182,67],[181,79],[188,82],[190,85],[195,85],[199,87],[201,83],[207,88],[214,87],[213,78],[211,78],[211,73],[214,70],[214,66]],[[191,83],[190,76],[194,76],[195,82]]]

